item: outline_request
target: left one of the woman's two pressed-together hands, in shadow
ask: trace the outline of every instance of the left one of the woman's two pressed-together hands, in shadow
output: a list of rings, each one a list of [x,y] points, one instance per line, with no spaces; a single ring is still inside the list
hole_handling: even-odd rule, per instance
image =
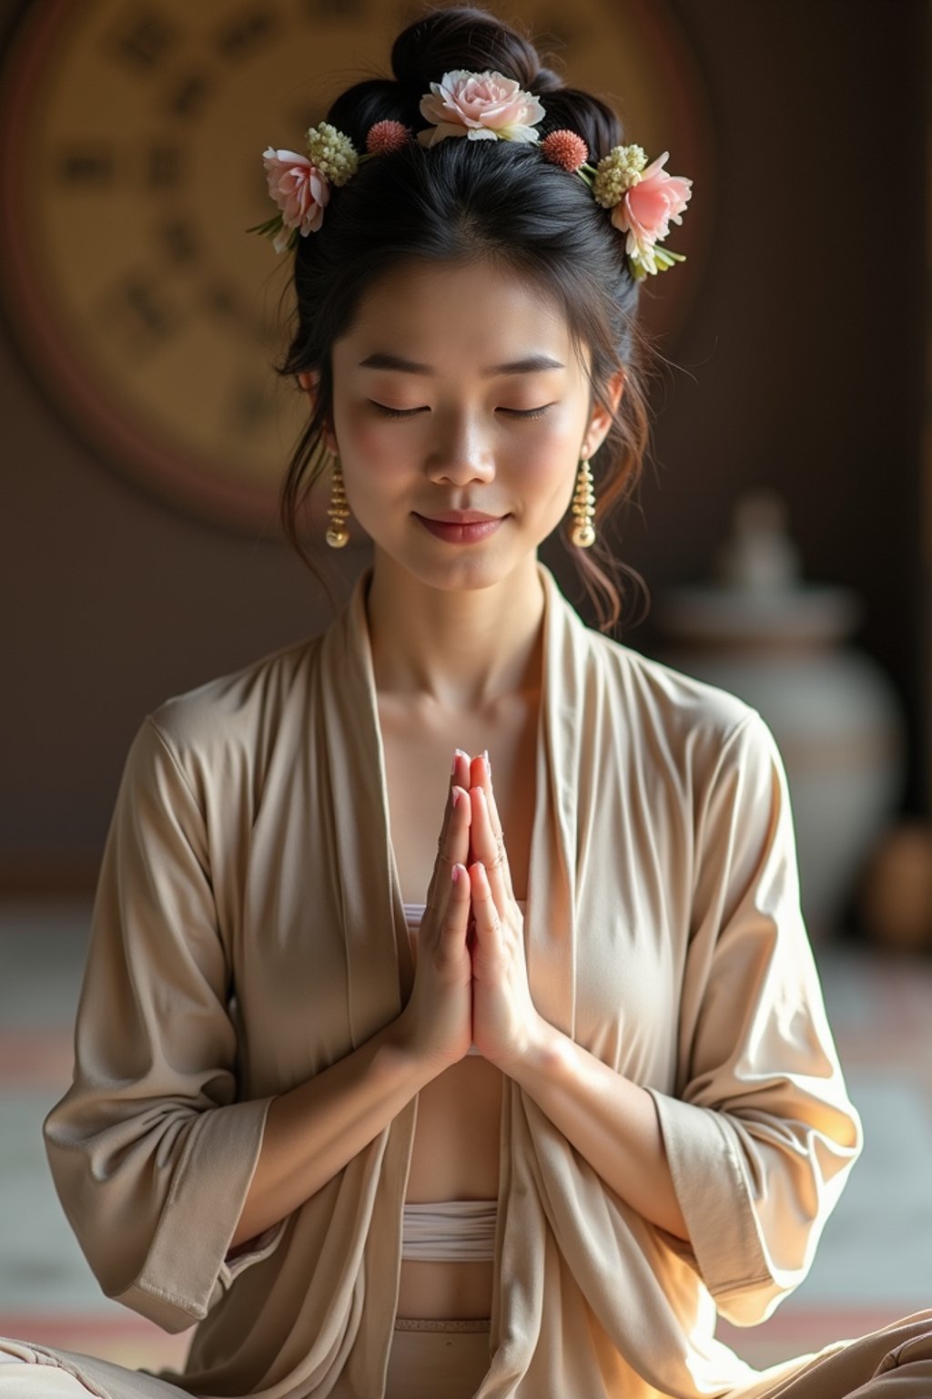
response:
[[[402,1042],[436,1073],[467,1053],[472,1042],[472,965],[469,926],[469,820],[465,783],[469,760],[457,750],[437,858],[428,890],[418,942],[411,997],[400,1016]],[[458,880],[453,880],[457,870]]]

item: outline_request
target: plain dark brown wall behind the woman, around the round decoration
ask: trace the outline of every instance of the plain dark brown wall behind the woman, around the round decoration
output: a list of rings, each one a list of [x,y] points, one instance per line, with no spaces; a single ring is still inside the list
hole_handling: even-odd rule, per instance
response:
[[[0,21],[17,8],[0,0]],[[925,8],[675,10],[710,90],[720,207],[665,347],[687,372],[657,386],[661,464],[622,553],[657,595],[703,572],[741,490],[781,488],[808,574],[865,600],[862,639],[908,705],[921,809]],[[94,460],[6,334],[0,404],[0,879],[87,880],[145,711],[317,630],[326,604],[279,546],[175,515]],[[655,638],[648,624],[627,639]]]

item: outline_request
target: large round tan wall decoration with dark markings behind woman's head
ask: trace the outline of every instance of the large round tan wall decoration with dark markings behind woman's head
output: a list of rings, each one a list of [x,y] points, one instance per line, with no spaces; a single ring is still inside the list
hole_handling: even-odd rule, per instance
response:
[[[175,508],[277,529],[306,400],[274,372],[285,257],[245,229],[268,215],[265,145],[300,148],[345,85],[384,73],[416,10],[384,0],[34,0],[0,90],[0,280],[17,343],[92,450]],[[506,15],[513,10],[502,8]],[[648,154],[697,197],[651,278],[669,333],[699,283],[711,179],[706,106],[660,0],[525,0],[517,14],[574,83],[618,101]],[[690,285],[692,284],[692,285]]]

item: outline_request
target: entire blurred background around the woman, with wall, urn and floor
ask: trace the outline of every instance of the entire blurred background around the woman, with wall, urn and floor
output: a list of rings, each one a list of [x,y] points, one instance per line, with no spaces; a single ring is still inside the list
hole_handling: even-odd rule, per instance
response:
[[[418,13],[0,0],[0,1333],[129,1364],[184,1347],[98,1295],[39,1128],[133,733],[330,620],[275,523],[286,269],[243,231],[268,214],[261,150],[384,71]],[[668,241],[687,262],[644,295],[653,457],[612,540],[650,607],[632,586],[619,638],[774,729],[868,1136],[809,1280],[722,1329],[766,1363],[932,1305],[929,11],[496,13],[694,180]],[[317,537],[345,597],[365,541]],[[560,541],[542,554],[592,620]]]

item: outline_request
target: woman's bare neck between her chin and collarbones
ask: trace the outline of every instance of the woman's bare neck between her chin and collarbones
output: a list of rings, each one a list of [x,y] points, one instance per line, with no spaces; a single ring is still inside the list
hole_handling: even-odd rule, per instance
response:
[[[544,586],[534,554],[489,588],[440,589],[376,550],[366,616],[380,694],[475,712],[535,683]]]

